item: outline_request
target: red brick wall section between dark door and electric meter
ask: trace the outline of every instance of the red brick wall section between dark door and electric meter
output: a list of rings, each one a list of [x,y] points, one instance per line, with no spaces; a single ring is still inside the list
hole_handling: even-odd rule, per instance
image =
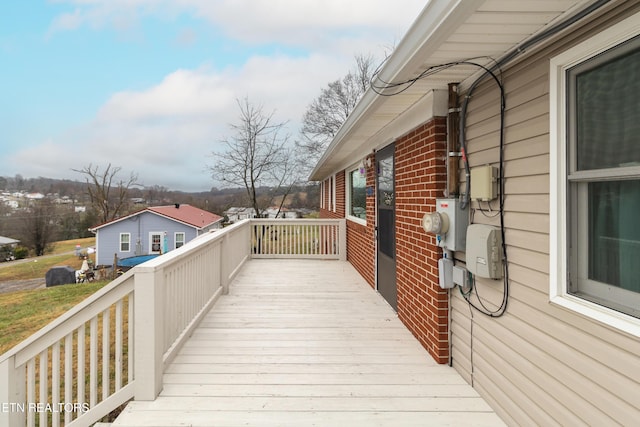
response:
[[[441,249],[422,228],[446,188],[446,118],[396,141],[398,316],[439,363],[449,358],[448,295],[438,286]]]

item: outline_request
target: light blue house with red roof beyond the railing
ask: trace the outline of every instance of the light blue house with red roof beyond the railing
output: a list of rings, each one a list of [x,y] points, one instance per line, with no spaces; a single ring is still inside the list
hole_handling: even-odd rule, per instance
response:
[[[177,249],[210,230],[222,228],[223,218],[190,205],[148,207],[91,228],[96,234],[96,265],[119,259]]]

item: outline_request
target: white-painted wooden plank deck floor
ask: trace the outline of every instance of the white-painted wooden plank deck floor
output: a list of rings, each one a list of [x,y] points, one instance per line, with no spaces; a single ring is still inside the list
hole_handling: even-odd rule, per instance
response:
[[[114,426],[500,426],[340,261],[252,260]]]

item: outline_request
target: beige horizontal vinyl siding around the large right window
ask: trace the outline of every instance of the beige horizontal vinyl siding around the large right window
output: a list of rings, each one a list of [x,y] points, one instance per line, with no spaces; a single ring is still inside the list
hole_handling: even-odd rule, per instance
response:
[[[453,366],[511,425],[635,425],[640,419],[640,340],[549,303],[549,58],[629,16],[623,9],[637,10],[639,3],[615,6],[504,71],[509,305],[497,319],[471,315],[452,292],[451,343]],[[472,167],[498,165],[498,106],[492,81],[469,104]],[[480,212],[473,218],[499,225]],[[500,304],[502,289],[501,280],[478,280],[491,307]]]

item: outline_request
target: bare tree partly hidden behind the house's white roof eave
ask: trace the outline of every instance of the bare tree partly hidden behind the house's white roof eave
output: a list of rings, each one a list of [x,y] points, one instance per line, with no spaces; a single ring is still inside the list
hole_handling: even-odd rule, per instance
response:
[[[373,56],[356,55],[355,60],[355,67],[342,79],[328,83],[304,113],[301,140],[296,145],[300,164],[307,170],[318,161],[369,88],[375,72]]]

